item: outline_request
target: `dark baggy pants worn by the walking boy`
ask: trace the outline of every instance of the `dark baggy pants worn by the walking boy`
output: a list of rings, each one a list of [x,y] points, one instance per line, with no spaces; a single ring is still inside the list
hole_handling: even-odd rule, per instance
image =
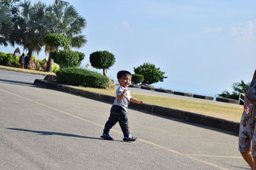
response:
[[[104,134],[108,134],[109,130],[116,124],[119,123],[123,134],[125,137],[128,137],[129,127],[128,127],[128,117],[127,117],[127,111],[124,110],[121,106],[113,105],[110,110],[110,116],[108,118],[108,121],[105,124],[104,127]]]

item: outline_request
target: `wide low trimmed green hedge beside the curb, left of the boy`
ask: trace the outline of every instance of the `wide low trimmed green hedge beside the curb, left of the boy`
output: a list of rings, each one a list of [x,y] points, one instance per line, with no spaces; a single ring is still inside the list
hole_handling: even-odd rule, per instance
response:
[[[77,67],[66,67],[56,72],[57,82],[68,85],[82,85],[84,87],[95,87],[108,89],[109,79],[95,71],[80,69]]]

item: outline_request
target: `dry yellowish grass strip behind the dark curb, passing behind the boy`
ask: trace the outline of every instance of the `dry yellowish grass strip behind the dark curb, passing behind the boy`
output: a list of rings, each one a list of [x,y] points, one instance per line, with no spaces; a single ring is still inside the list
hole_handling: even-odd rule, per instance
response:
[[[92,92],[100,94],[108,94],[109,96],[115,96],[115,89],[93,89],[79,87]],[[241,114],[243,112],[243,106],[236,106],[232,104],[212,103],[209,101],[195,101],[190,99],[179,99],[175,97],[155,96],[150,94],[142,94],[138,92],[131,92],[132,97],[141,99],[144,103],[155,104],[158,106],[164,106],[168,108],[174,108],[178,110],[191,111],[210,117],[223,118],[225,120],[231,120],[234,122],[240,122]]]

